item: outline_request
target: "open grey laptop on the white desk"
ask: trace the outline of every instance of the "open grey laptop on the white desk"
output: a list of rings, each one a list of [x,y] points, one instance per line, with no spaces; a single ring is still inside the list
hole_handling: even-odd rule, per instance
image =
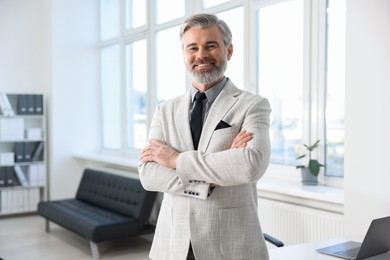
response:
[[[390,250],[390,217],[374,219],[362,243],[348,241],[317,249],[317,252],[344,259],[360,260]]]

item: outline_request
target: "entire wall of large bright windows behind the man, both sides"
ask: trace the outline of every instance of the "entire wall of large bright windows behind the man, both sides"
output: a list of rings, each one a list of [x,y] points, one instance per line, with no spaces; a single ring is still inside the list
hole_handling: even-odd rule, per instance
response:
[[[138,156],[156,105],[188,89],[179,26],[206,12],[233,33],[226,76],[271,102],[270,172],[297,172],[302,144],[320,139],[322,176],[343,176],[345,0],[100,3],[104,151]]]

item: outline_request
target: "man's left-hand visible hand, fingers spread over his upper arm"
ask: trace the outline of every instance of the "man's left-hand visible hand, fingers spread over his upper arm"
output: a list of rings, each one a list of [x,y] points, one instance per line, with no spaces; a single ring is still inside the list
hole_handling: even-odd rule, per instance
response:
[[[176,159],[179,152],[155,139],[149,140],[149,145],[146,146],[140,156],[141,163],[156,162],[163,167],[176,169]]]

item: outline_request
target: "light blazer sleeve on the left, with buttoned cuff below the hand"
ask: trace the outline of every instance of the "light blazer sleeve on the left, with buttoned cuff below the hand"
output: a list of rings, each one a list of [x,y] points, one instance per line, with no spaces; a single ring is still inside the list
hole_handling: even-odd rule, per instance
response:
[[[160,120],[160,107],[157,107],[149,129],[149,139],[165,141]],[[207,199],[208,183],[184,184],[173,169],[160,166],[155,162],[147,162],[138,167],[141,184],[149,191],[167,192],[174,195]]]

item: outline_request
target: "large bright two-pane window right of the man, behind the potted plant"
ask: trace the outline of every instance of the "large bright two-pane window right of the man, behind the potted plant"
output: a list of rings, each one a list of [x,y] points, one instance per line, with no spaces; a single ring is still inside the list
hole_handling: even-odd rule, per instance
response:
[[[303,144],[343,177],[345,1],[256,4],[257,83],[270,100],[271,164],[291,172]],[[272,168],[272,167],[271,167]]]

